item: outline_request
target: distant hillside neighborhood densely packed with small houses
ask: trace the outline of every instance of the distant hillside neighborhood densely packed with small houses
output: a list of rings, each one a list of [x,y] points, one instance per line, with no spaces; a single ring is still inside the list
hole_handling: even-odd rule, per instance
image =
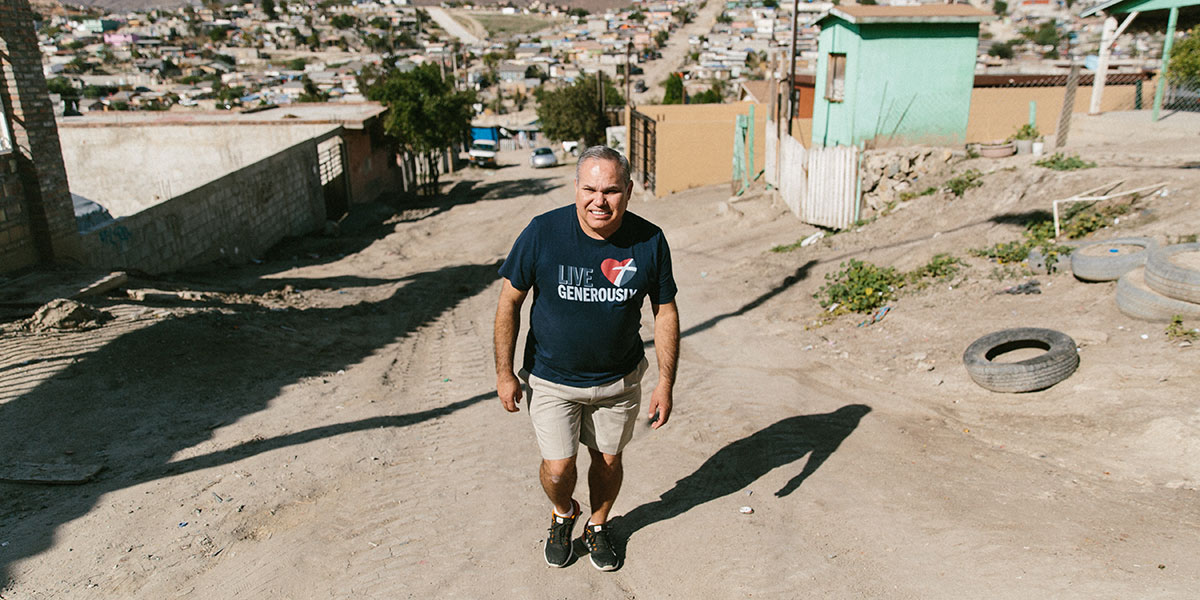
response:
[[[64,6],[41,14],[38,44],[50,90],[67,114],[361,102],[358,76],[385,60],[400,68],[436,62],[461,85],[484,91],[488,110],[508,112],[523,107],[536,86],[595,72],[619,78],[626,62],[631,77],[661,98],[661,82],[637,72],[704,4],[632,2],[596,13],[540,1],[520,8],[454,4],[445,12],[479,34],[468,41],[408,2],[269,0],[120,13]],[[812,24],[833,4],[797,6],[797,70],[811,73]],[[1080,18],[1061,0],[986,8],[998,18],[983,29],[982,73],[1064,73],[1099,44],[1102,19]],[[686,61],[671,68],[694,94],[715,84],[724,100],[733,100],[739,82],[763,79],[769,56],[788,52],[792,20],[791,2],[725,2],[703,34],[685,40]],[[1126,36],[1111,65],[1153,68],[1160,48],[1160,31]]]

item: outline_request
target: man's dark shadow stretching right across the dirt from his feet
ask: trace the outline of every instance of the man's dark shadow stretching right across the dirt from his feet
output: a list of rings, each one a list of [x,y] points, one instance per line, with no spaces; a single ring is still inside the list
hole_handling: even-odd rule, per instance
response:
[[[804,468],[775,492],[782,498],[796,491],[809,475],[838,450],[858,427],[871,407],[847,404],[833,413],[790,416],[718,450],[698,469],[667,490],[658,500],[642,504],[613,517],[614,545],[624,554],[629,538],[643,527],[679,516],[706,502],[734,493],[775,467],[810,455]]]

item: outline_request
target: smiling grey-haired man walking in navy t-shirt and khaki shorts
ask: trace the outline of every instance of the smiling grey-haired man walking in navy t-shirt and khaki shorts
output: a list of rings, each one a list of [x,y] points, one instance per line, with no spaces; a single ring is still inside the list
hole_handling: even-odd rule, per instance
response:
[[[496,311],[496,389],[515,413],[522,385],[541,450],[540,479],[553,504],[546,563],[565,566],[580,503],[572,497],[582,442],[592,462],[592,516],[583,542],[602,571],[620,565],[607,521],[624,475],[622,450],[634,433],[647,360],[638,329],[646,298],[654,313],[659,380],[647,416],[652,428],[671,416],[679,353],[679,314],[671,250],[662,230],[626,212],[634,182],[629,161],[607,146],[580,155],[575,205],[533,218],[500,266]],[[520,379],[514,354],[521,306],[533,290]]]

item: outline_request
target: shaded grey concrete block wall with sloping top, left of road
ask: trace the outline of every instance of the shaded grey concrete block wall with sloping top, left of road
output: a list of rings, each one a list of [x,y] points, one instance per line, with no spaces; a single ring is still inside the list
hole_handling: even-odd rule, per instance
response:
[[[149,274],[228,259],[244,263],[325,222],[310,139],[80,236],[84,262]]]

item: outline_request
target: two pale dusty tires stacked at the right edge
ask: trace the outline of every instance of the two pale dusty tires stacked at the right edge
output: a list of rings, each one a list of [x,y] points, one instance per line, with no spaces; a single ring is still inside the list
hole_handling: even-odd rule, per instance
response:
[[[1200,319],[1200,244],[1146,252],[1146,264],[1117,280],[1117,308],[1135,319]]]

